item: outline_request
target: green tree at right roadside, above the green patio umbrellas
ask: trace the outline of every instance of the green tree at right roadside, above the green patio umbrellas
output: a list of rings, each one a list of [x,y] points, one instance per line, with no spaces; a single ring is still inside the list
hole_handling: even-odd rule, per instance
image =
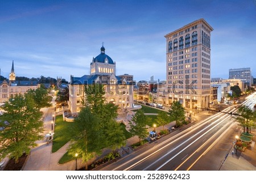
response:
[[[243,132],[249,132],[249,129],[251,126],[254,126],[254,112],[247,107],[246,105],[242,105],[240,108],[237,109],[237,114],[240,116],[234,115],[234,118],[237,122],[239,122],[238,125],[243,127]]]

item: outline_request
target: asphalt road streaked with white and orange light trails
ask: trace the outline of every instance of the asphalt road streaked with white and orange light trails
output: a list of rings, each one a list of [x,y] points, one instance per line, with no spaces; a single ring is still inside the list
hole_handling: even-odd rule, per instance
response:
[[[243,103],[252,107],[256,95]],[[236,105],[222,112],[235,112]],[[241,127],[226,113],[184,126],[101,170],[218,170]]]

